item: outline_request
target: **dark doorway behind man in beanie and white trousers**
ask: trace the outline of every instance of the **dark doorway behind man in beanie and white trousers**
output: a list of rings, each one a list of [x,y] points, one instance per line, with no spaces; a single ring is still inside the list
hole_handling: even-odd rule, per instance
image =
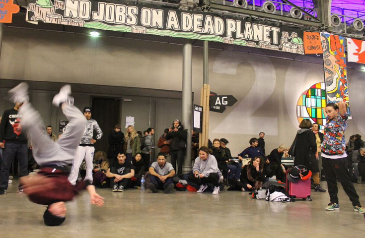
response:
[[[108,137],[114,126],[119,124],[120,118],[120,99],[116,98],[92,98],[92,119],[95,119],[101,130],[103,136],[101,140],[95,143],[95,153],[99,150],[108,152],[109,143]]]

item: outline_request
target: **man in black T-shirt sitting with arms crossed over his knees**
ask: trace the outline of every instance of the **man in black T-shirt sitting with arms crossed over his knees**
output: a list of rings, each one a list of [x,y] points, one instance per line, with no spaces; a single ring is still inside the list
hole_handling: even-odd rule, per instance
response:
[[[124,188],[131,186],[131,178],[135,175],[131,162],[126,162],[126,154],[118,153],[117,160],[110,163],[106,177],[110,178],[113,192],[123,192]]]

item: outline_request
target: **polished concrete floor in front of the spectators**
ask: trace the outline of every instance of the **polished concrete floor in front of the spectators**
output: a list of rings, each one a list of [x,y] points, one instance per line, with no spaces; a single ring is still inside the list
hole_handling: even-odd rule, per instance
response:
[[[103,207],[91,206],[87,192],[67,204],[59,227],[43,225],[45,206],[17,193],[18,181],[0,195],[0,238],[363,238],[365,218],[354,212],[341,185],[339,211],[325,211],[328,193],[313,192],[313,201],[289,203],[252,199],[248,192],[148,193],[127,189],[105,197]],[[322,182],[323,187],[326,183]],[[365,184],[355,184],[365,205]]]

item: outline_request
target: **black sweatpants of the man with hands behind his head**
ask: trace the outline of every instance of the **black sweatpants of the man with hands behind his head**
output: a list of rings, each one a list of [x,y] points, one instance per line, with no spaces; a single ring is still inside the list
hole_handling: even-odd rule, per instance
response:
[[[349,196],[353,206],[361,206],[359,195],[355,190],[354,184],[351,181],[349,171],[347,170],[347,158],[328,159],[322,154],[322,165],[324,175],[326,177],[328,193],[331,202],[338,203],[338,187],[336,176],[340,179],[341,185],[346,194]]]

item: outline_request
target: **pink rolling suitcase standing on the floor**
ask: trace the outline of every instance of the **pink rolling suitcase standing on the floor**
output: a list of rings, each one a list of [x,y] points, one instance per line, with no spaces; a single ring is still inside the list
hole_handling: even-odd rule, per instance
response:
[[[289,171],[289,170],[288,170]],[[287,191],[289,196],[292,198],[292,201],[295,201],[295,198],[302,198],[303,200],[312,201],[310,197],[310,179],[301,180],[298,182],[291,182],[288,180],[288,171],[287,171]]]

